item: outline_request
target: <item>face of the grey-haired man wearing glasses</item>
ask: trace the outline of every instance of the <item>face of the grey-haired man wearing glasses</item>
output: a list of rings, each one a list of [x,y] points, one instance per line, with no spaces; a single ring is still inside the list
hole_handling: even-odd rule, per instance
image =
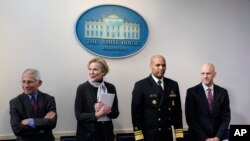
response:
[[[33,75],[23,74],[21,83],[25,94],[33,94],[38,90],[38,87],[41,86],[42,81],[36,80]]]

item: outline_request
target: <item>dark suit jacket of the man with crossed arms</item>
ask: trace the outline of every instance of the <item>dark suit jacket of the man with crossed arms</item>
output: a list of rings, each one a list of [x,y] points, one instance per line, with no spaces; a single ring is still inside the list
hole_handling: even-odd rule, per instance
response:
[[[28,95],[20,94],[10,100],[10,123],[18,141],[53,141],[52,129],[55,128],[57,117],[44,119],[50,112],[56,112],[55,98],[38,91],[37,102],[39,105],[38,117],[35,117]],[[22,125],[23,119],[33,118],[35,128]]]

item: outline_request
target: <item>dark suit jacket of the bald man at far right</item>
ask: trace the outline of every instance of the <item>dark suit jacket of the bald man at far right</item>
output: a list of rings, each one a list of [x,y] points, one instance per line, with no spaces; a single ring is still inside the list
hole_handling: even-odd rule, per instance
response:
[[[215,136],[223,139],[231,119],[227,90],[214,85],[213,98],[210,111],[202,83],[187,90],[185,113],[190,141]]]

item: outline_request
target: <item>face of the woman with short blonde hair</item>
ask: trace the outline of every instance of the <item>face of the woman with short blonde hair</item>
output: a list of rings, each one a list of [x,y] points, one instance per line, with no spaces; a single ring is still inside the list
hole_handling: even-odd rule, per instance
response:
[[[105,73],[102,71],[102,65],[98,62],[89,64],[89,79],[91,81],[100,81]]]

